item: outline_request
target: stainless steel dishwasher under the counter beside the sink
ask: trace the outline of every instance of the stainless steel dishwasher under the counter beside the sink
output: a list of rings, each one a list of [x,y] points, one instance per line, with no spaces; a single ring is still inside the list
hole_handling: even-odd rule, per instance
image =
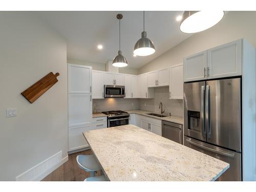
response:
[[[177,143],[183,144],[183,125],[162,121],[162,136]]]

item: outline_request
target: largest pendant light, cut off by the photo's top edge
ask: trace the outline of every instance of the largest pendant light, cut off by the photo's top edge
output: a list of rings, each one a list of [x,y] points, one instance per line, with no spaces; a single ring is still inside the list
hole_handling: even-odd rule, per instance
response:
[[[180,30],[184,33],[197,33],[215,26],[224,16],[224,11],[184,11]]]

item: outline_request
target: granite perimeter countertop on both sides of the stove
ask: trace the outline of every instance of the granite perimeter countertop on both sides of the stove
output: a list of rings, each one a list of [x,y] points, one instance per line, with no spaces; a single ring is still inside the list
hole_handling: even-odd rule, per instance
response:
[[[167,116],[167,117],[157,117],[157,116],[147,115],[147,113],[155,113],[155,112],[143,111],[143,110],[128,110],[126,112],[129,113],[129,114],[143,115],[143,116],[146,116],[146,117],[151,117],[151,118],[154,118],[154,119],[169,121],[169,122],[178,123],[178,124],[183,125],[183,118],[182,117],[176,117],[176,116],[173,116],[173,115],[172,116]],[[103,113],[93,113],[93,118],[106,117],[106,116],[107,115],[105,115]]]

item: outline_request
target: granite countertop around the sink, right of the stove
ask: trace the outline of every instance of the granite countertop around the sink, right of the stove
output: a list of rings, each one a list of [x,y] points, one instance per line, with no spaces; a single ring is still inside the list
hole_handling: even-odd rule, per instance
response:
[[[138,114],[138,115],[144,115],[146,117],[151,117],[154,119],[159,119],[159,120],[165,120],[173,123],[178,123],[183,125],[183,118],[182,117],[176,117],[176,116],[167,116],[167,117],[157,117],[153,115],[147,115],[147,113],[154,113],[154,112],[149,112],[149,111],[142,111],[142,110],[131,110],[131,111],[126,111],[130,114]],[[156,113],[157,114],[157,113]],[[165,115],[165,114],[163,114]]]

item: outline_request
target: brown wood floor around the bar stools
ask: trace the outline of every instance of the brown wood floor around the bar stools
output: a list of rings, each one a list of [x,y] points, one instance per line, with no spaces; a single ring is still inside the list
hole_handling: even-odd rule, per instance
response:
[[[60,165],[56,170],[41,181],[83,181],[84,179],[90,177],[90,172],[85,172],[78,167],[76,156],[89,154],[92,154],[91,150],[69,155],[69,160],[66,163]],[[96,176],[97,175],[99,175],[99,173],[97,173]]]

